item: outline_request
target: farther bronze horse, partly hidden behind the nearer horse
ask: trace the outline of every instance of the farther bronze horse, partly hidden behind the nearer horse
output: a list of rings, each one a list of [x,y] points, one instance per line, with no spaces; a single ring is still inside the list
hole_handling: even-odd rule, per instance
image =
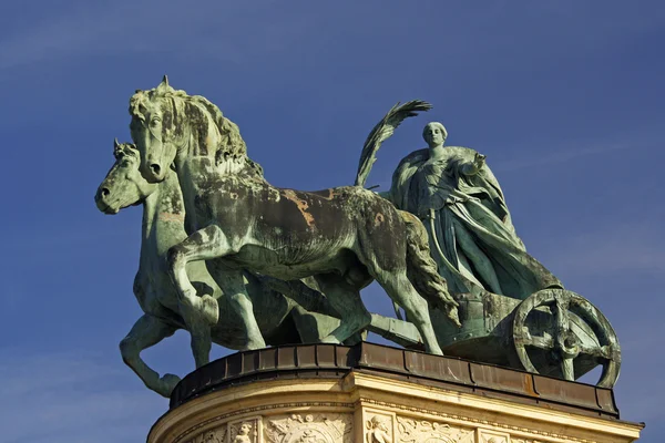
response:
[[[184,240],[184,205],[175,173],[167,171],[164,179],[150,184],[139,172],[139,152],[131,144],[114,145],[115,164],[100,185],[95,202],[105,214],[117,214],[130,205],[143,204],[142,244],[140,267],[134,280],[136,300],[145,312],[130,333],[121,341],[120,349],[125,363],[153,391],[168,396],[177,375],[160,374],[152,370],[140,357],[140,352],[152,347],[177,329],[190,329],[180,312],[178,296],[166,268],[165,256],[168,249]],[[191,262],[187,277],[197,288],[197,295],[207,295],[218,305],[219,321],[214,326],[200,322],[193,326],[192,350],[196,367],[208,362],[211,341],[229,349],[246,349],[247,337],[244,327],[229,308],[228,299],[209,276],[204,261]],[[246,288],[255,303],[256,317],[264,337],[272,344],[298,343],[318,339],[339,323],[336,319],[306,311],[334,313],[324,298],[307,296],[299,290],[298,302],[274,291],[268,278],[244,275]],[[311,322],[315,328],[311,328]],[[315,331],[313,336],[313,331]],[[315,337],[316,336],[316,337]]]

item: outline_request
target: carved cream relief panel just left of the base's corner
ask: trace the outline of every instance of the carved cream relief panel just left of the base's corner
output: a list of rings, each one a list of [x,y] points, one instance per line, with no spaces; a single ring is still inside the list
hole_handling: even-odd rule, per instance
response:
[[[288,414],[267,419],[265,443],[352,443],[351,414]]]

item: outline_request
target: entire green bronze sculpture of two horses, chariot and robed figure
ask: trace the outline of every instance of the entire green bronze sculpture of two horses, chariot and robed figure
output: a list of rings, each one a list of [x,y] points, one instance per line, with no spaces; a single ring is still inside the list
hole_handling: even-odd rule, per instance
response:
[[[304,192],[267,183],[237,125],[205,97],[174,90],[166,78],[136,91],[130,100],[134,144],[115,143],[116,162],[95,195],[106,214],[137,204],[144,210],[134,292],[145,315],[121,343],[125,362],[168,395],[180,379],[160,377],[140,352],[180,328],[192,334],[197,368],[208,362],[212,342],[238,350],[354,344],[372,331],[410,349],[565,380],[600,364],[597,385],[611,388],[621,367],[614,330],[526,253],[483,155],[444,146],[447,130],[430,123],[428,147],[400,162],[390,190],[365,188],[381,143],[405,119],[430,109],[411,101],[388,112],[365,143],[355,186]],[[398,318],[366,309],[359,292],[372,280]],[[397,356],[371,349],[372,359]],[[262,360],[268,354],[242,356],[259,356],[257,373],[264,374],[273,368]],[[377,370],[358,359],[339,368]],[[477,389],[479,375],[463,364]]]

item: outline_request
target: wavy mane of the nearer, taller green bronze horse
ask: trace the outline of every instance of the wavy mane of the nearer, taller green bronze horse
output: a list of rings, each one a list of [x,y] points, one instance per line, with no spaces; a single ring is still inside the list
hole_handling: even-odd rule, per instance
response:
[[[217,126],[221,140],[216,146],[215,161],[217,165],[233,161],[241,161],[248,167],[250,175],[263,178],[263,167],[247,156],[247,145],[241,135],[238,125],[224,116],[219,107],[202,95],[190,95],[183,90],[175,90],[164,80],[152,90],[136,90],[130,99],[130,114],[142,122],[145,121],[144,111],[151,102],[160,99],[180,99],[191,102],[202,112],[207,112]],[[173,104],[175,111],[175,104]]]

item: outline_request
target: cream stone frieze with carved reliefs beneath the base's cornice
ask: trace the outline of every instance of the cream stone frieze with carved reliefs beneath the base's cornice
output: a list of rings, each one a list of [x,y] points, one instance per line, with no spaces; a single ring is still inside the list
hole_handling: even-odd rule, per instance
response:
[[[278,412],[311,408],[319,411]],[[321,409],[335,409],[337,412],[321,412]],[[348,413],[339,412],[340,409]],[[277,414],[270,415],[270,411]],[[358,411],[361,411],[360,415],[354,419]],[[423,415],[427,420],[419,419]],[[495,419],[483,420],[368,398],[360,398],[355,403],[288,402],[227,412],[197,423],[173,442],[352,443],[354,425],[360,426],[357,436],[362,443],[595,443],[593,440],[500,423]],[[206,431],[202,432],[204,429]]]

